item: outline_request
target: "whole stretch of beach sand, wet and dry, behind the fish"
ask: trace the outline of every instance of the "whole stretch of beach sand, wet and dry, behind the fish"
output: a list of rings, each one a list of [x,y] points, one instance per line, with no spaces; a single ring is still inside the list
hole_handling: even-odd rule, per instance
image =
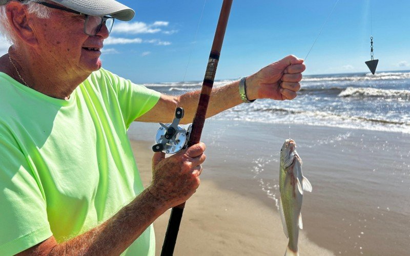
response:
[[[144,184],[156,124],[129,130]],[[201,186],[187,202],[175,255],[283,255],[279,150],[288,124],[207,120]],[[410,248],[410,136],[292,125],[303,174],[301,255],[405,255]],[[135,141],[137,139],[138,141]],[[154,222],[160,254],[170,211]]]

